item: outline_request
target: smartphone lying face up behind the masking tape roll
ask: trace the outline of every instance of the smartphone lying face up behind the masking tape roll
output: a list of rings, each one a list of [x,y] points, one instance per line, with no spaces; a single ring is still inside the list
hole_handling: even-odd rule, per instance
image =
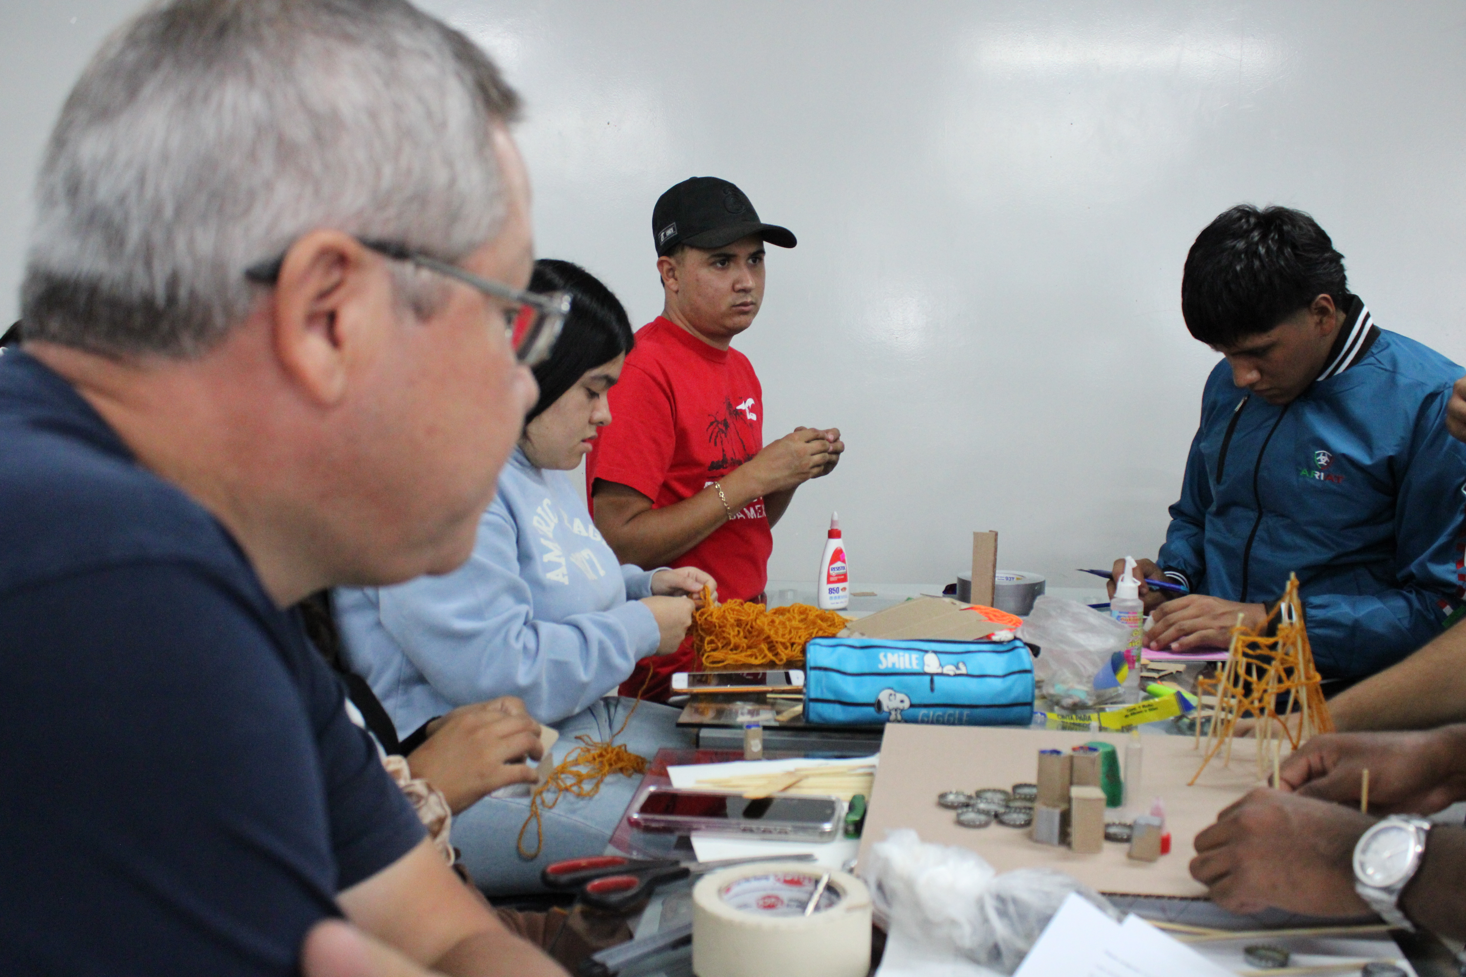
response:
[[[837,797],[759,797],[654,787],[627,820],[641,831],[692,831],[770,841],[833,841],[844,817]]]

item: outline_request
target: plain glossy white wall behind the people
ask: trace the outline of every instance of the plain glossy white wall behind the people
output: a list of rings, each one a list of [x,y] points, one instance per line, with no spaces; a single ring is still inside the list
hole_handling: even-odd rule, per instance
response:
[[[814,573],[831,508],[858,586],[950,577],[972,529],[1058,583],[1154,554],[1217,359],[1182,261],[1239,201],[1311,211],[1381,325],[1466,359],[1459,0],[425,6],[526,97],[539,252],[636,322],[671,183],[732,179],[799,236],[739,347],[767,437],[839,425],[849,453],[776,530],[776,579]],[[132,7],[0,10],[10,309],[41,141]]]

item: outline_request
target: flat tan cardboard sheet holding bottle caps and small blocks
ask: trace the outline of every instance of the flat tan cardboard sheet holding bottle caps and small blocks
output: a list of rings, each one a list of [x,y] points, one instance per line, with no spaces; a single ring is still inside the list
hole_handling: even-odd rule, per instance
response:
[[[1141,737],[1145,747],[1141,794],[1146,806],[1151,797],[1165,800],[1165,826],[1171,832],[1171,854],[1154,863],[1132,861],[1126,857],[1127,845],[1114,842],[1105,842],[1098,855],[1076,855],[1069,848],[1035,844],[1026,829],[1001,825],[962,828],[953,811],[937,806],[937,795],[943,791],[1034,782],[1039,750],[1067,751],[1092,740],[1108,740],[1124,756],[1127,737],[1117,734],[887,724],[881,766],[861,838],[862,861],[887,831],[912,828],[922,841],[978,852],[998,872],[1042,866],[1067,872],[1101,892],[1205,896],[1207,888],[1187,872],[1195,854],[1192,842],[1217,819],[1217,811],[1258,784],[1253,740],[1234,743],[1230,768],[1217,757],[1196,787],[1186,787],[1201,766],[1201,754],[1192,748],[1192,740]],[[1204,747],[1205,743],[1202,740]],[[1120,813],[1111,809],[1107,819],[1117,820]]]

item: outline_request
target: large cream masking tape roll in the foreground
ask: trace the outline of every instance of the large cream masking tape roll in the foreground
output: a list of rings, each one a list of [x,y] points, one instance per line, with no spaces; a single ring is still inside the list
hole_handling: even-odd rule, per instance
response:
[[[871,892],[809,863],[756,863],[715,872],[692,891],[692,973],[698,977],[865,977],[871,970]]]

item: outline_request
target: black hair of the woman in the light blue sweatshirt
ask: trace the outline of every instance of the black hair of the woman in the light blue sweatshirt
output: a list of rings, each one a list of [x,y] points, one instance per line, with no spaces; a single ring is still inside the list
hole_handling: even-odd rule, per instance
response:
[[[550,359],[535,366],[539,401],[525,417],[534,420],[564,391],[575,387],[585,371],[630,353],[636,340],[626,309],[611,290],[581,265],[556,258],[541,258],[529,278],[531,291],[569,291],[570,315],[556,340]]]

